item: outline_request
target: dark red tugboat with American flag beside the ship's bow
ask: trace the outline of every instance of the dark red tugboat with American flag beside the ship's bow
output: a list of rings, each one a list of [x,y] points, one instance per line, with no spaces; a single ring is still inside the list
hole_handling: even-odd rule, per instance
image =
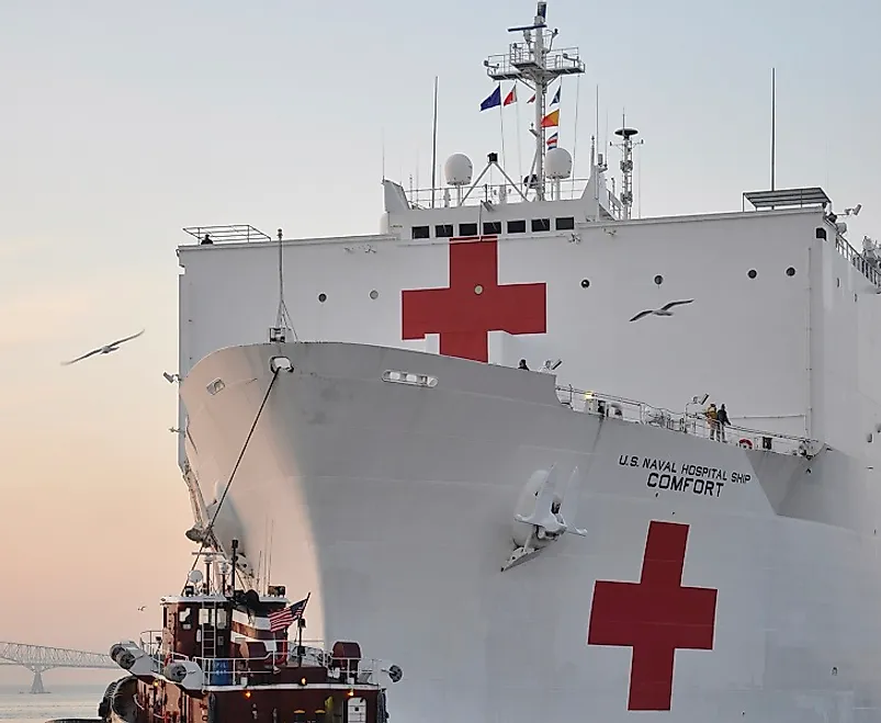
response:
[[[234,561],[235,549],[234,541]],[[229,566],[215,569],[216,589],[210,563],[205,575],[191,571],[182,595],[162,598],[161,632],[111,647],[129,675],[109,686],[102,721],[385,723],[385,685],[400,680],[400,668],[362,658],[355,642],[329,652],[304,644],[308,596],[292,603],[283,586],[263,595],[230,589]]]

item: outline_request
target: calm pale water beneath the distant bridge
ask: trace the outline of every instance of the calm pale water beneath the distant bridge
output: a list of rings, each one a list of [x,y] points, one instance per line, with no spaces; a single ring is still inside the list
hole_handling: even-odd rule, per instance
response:
[[[98,718],[98,703],[105,684],[72,686],[45,681],[50,692],[32,696],[29,684],[0,685],[0,721],[3,723],[44,723],[54,718]]]

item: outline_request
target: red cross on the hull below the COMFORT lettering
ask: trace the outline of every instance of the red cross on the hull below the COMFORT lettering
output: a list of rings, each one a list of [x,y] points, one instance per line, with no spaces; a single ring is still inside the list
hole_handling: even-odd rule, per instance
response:
[[[648,526],[639,583],[598,580],[588,645],[633,648],[629,711],[668,711],[677,648],[710,651],[719,590],[682,587],[688,526]]]

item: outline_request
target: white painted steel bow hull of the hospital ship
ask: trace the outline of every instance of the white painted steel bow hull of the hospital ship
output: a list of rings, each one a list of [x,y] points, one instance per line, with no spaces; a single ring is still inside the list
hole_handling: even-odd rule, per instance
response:
[[[271,547],[271,579],[290,597],[312,592],[307,637],[355,640],[403,668],[393,721],[881,720],[881,507],[865,464],[576,413],[544,374],[360,344],[255,344],[208,354],[181,385],[207,501],[280,353],[294,371],[279,375],[217,531],[225,544],[238,536],[253,566]],[[389,369],[439,382],[389,384]],[[659,489],[644,457],[726,478],[711,494]],[[575,523],[587,536],[500,572],[518,498],[552,464],[581,471]],[[653,521],[688,526],[681,584],[718,590],[714,628],[712,649],[676,652],[669,710],[634,711],[631,648],[587,635],[595,584],[640,580]],[[657,640],[660,618],[618,630]],[[653,675],[654,692],[634,691],[631,707],[664,708]]]

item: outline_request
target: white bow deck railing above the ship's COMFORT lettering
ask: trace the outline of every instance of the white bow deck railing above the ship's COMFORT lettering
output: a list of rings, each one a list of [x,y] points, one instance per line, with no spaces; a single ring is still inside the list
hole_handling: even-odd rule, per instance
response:
[[[556,394],[561,404],[574,411],[659,427],[712,439],[720,443],[737,444],[745,449],[810,456],[815,454],[820,448],[818,442],[804,437],[711,422],[704,411],[676,413],[635,399],[578,389],[574,386],[557,386]]]

